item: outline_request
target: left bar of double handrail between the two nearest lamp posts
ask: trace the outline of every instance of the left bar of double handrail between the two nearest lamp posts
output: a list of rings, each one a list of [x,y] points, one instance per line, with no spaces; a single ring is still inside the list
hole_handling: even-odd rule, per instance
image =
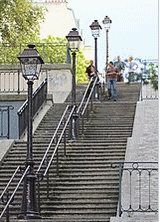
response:
[[[48,145],[48,147],[47,147],[47,150],[46,150],[46,152],[45,152],[45,154],[44,154],[44,156],[43,156],[43,159],[42,159],[42,161],[41,161],[41,163],[40,163],[40,165],[39,165],[39,167],[38,167],[38,170],[37,170],[36,174],[39,173],[39,171],[40,171],[40,169],[41,169],[41,167],[42,167],[42,165],[43,165],[43,162],[44,162],[44,160],[45,160],[45,158],[46,158],[46,156],[47,156],[47,154],[48,154],[48,152],[49,152],[49,150],[50,150],[50,148],[51,148],[51,145],[52,145],[52,143],[53,143],[53,141],[54,141],[54,139],[55,139],[55,137],[56,137],[56,135],[57,135],[57,132],[58,132],[58,130],[59,130],[59,128],[60,128],[63,120],[64,120],[64,117],[65,117],[65,115],[66,115],[66,113],[67,113],[68,108],[69,108],[69,105],[67,105],[67,107],[66,107],[66,109],[65,109],[65,111],[64,111],[64,113],[63,113],[63,115],[62,115],[62,117],[61,117],[61,119],[60,119],[60,121],[59,121],[59,123],[58,123],[58,126],[57,126],[57,128],[56,128],[56,130],[55,130],[55,132],[54,132],[53,137],[51,138],[51,141],[50,141],[50,143],[49,143],[49,145]]]

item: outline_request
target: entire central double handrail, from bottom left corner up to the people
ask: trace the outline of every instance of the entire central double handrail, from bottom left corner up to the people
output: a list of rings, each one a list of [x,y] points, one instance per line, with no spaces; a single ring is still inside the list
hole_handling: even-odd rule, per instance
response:
[[[56,158],[56,174],[57,176],[59,175],[59,146],[60,144],[64,144],[64,156],[66,156],[66,142],[67,139],[69,139],[69,127],[70,127],[70,121],[71,118],[73,116],[73,114],[75,113],[75,110],[78,111],[78,116],[79,117],[84,117],[85,114],[87,114],[87,118],[89,115],[89,102],[91,101],[91,111],[93,111],[93,93],[94,93],[94,88],[96,86],[97,83],[97,78],[96,77],[94,80],[92,80],[92,83],[90,82],[85,93],[84,96],[82,98],[82,101],[80,103],[80,106],[77,107],[74,106],[67,106],[66,109],[64,110],[64,113],[58,123],[58,126],[53,134],[53,137],[51,138],[51,141],[46,149],[46,152],[42,158],[42,161],[36,171],[36,178],[37,178],[37,193],[38,193],[38,209],[40,212],[40,182],[46,178],[46,190],[47,190],[47,199],[50,198],[50,194],[49,194],[49,186],[50,186],[50,178],[49,178],[49,174],[50,174],[50,168],[53,164],[53,160]],[[90,91],[90,94],[87,98],[87,100],[85,100],[86,95],[87,95],[87,91],[88,88],[90,87],[90,84],[92,84],[92,88]],[[67,135],[67,130],[68,130],[68,135]],[[54,145],[54,148],[53,148]],[[29,170],[29,166],[25,169],[20,181],[18,182],[18,185],[16,186],[14,192],[12,193],[11,197],[9,198],[9,194],[8,194],[8,190],[9,190],[9,185],[11,184],[11,182],[13,181],[13,178],[15,178],[15,175],[17,174],[17,172],[21,170],[21,167],[18,166],[17,169],[15,170],[14,174],[12,175],[9,183],[7,184],[7,186],[5,187],[4,191],[2,192],[0,198],[3,200],[3,196],[6,194],[7,195],[7,201],[5,202],[5,207],[0,215],[0,219],[3,217],[4,213],[6,212],[6,221],[9,222],[9,205],[12,203],[13,198],[20,186],[20,184],[22,183],[25,175],[27,174],[28,170]],[[21,170],[22,171],[22,170]]]

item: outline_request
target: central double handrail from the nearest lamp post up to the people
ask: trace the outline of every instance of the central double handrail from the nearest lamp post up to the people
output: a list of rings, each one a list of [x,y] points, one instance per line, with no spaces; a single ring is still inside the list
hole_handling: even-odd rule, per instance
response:
[[[43,180],[44,178],[46,178],[46,191],[47,191],[47,199],[50,198],[50,194],[49,194],[49,170],[51,168],[51,165],[53,163],[53,159],[56,159],[56,174],[57,176],[59,175],[59,146],[61,144],[61,142],[63,141],[64,143],[64,156],[66,156],[66,140],[67,138],[69,139],[70,136],[70,122],[71,119],[73,118],[73,115],[75,115],[75,111],[76,111],[76,115],[77,115],[77,121],[79,123],[79,118],[83,119],[83,124],[84,124],[84,116],[85,114],[87,115],[87,119],[88,119],[88,115],[89,115],[89,101],[91,100],[91,110],[93,111],[93,93],[94,93],[94,88],[96,86],[97,83],[97,79],[98,77],[96,77],[94,80],[91,80],[84,95],[82,98],[82,101],[77,109],[77,107],[74,106],[67,106],[61,119],[60,122],[55,130],[55,133],[49,143],[49,146],[43,156],[43,159],[39,165],[39,168],[36,172],[37,177],[39,177],[40,179],[38,179],[38,205],[39,205],[39,209],[40,209],[40,181]],[[92,88],[90,91],[90,94],[86,100],[86,95],[87,95],[87,91],[90,87],[90,85],[92,84]],[[67,115],[67,112],[69,111],[69,114]],[[60,131],[60,126],[63,124],[63,128]],[[79,124],[78,124],[79,125]],[[67,127],[68,127],[68,134],[67,134]],[[79,128],[79,127],[78,127]],[[83,125],[83,132],[84,132],[84,125]],[[66,136],[67,135],[67,136]],[[54,150],[52,148],[52,145],[55,145]],[[53,150],[53,151],[52,151]],[[52,154],[51,154],[52,151]],[[46,165],[46,166],[45,166]],[[42,172],[43,171],[43,172]]]

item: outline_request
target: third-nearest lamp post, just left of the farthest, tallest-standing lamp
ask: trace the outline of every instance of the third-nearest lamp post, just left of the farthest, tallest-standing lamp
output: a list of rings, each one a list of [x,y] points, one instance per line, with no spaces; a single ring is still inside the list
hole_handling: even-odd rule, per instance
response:
[[[95,74],[97,75],[97,71],[98,71],[98,65],[97,65],[97,39],[100,36],[100,29],[102,29],[102,27],[100,26],[100,24],[98,23],[98,20],[94,20],[94,22],[92,22],[92,24],[89,26],[92,32],[92,36],[94,37],[95,40]],[[98,84],[96,85],[96,91],[94,92],[94,98],[96,100],[99,99],[99,95],[98,95]]]

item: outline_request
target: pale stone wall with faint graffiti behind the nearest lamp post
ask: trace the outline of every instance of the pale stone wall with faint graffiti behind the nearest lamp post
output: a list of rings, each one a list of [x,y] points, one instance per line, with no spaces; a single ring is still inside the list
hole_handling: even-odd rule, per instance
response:
[[[19,71],[18,71],[19,70]],[[44,64],[39,79],[34,81],[33,91],[48,77],[48,94],[54,103],[63,103],[72,89],[70,64]],[[4,94],[27,94],[27,81],[23,78],[19,65],[0,67],[0,97]]]

